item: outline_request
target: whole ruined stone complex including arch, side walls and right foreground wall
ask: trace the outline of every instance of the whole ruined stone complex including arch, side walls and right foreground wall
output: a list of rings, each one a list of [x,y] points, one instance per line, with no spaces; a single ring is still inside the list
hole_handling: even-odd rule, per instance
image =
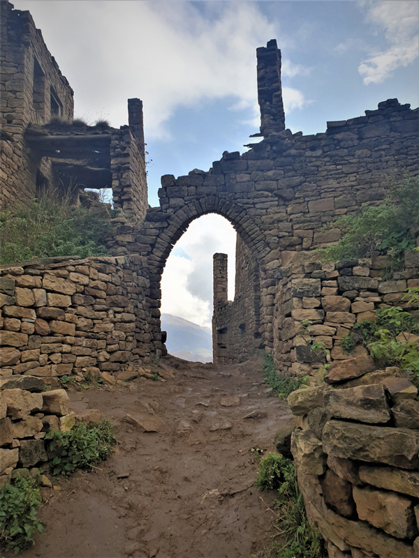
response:
[[[330,350],[324,382],[335,386],[288,398],[309,521],[328,541],[330,558],[417,557],[418,390],[406,370],[374,370],[365,347],[349,359],[340,342],[377,308],[405,304],[406,290],[419,287],[419,251],[406,250],[404,269],[390,278],[387,256],[322,263],[311,255],[341,236],[324,225],[362,204],[381,204],[389,181],[419,174],[418,109],[389,99],[363,116],[328,122],[325,132],[293,134],[285,127],[281,52],[270,40],[257,50],[260,142],[242,155],[224,152],[207,172],[162,176],[160,204],[150,208],[141,101],[128,100],[128,126],[119,129],[73,121],[73,90],[29,12],[1,0],[0,24],[0,209],[29,204],[45,190],[87,204],[89,187],[112,188],[122,210],[103,257],[0,266],[2,382],[13,376],[11,385],[29,386],[41,378],[57,387],[64,375],[107,372],[115,383],[110,375],[159,358],[168,255],[194,219],[218,213],[237,231],[236,294],[228,301],[227,257],[215,254],[214,362],[264,350],[282,375],[317,381],[326,356],[301,335],[309,320],[310,335]],[[47,460],[41,438],[3,432],[1,439],[13,467],[29,446],[43,457],[25,467]]]

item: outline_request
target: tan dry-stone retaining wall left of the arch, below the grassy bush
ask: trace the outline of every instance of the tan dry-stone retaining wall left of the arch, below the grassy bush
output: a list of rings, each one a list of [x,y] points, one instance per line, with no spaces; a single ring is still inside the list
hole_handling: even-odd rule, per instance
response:
[[[140,256],[71,257],[0,267],[0,375],[118,372],[152,349]]]

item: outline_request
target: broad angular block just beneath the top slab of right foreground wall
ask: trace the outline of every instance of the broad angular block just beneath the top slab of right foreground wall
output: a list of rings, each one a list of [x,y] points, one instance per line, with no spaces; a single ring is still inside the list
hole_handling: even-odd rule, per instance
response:
[[[337,418],[372,424],[390,420],[390,408],[381,384],[330,390],[325,393],[324,401],[326,411]]]

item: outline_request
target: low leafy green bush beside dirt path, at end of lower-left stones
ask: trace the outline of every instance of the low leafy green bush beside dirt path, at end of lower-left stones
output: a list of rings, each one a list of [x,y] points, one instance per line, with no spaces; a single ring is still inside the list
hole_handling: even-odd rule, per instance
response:
[[[52,474],[67,476],[106,459],[117,443],[112,424],[106,420],[90,428],[77,423],[69,432],[54,430],[45,439],[50,440],[48,451],[55,455],[50,463]]]

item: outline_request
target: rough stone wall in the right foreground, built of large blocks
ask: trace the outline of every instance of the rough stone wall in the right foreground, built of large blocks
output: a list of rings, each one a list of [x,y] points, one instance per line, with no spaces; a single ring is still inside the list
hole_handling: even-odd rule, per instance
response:
[[[402,370],[348,362],[337,363],[339,380],[288,396],[309,522],[330,558],[417,557],[418,390]]]

